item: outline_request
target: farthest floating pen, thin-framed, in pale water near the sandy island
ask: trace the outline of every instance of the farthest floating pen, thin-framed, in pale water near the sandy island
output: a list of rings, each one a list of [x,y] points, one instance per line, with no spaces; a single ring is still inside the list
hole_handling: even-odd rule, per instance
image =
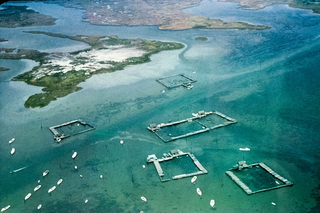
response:
[[[184,74],[172,75],[160,79],[156,79],[160,84],[164,85],[167,88],[173,88],[178,86],[184,86],[188,89],[191,89],[191,83],[195,82],[195,79],[192,79]]]

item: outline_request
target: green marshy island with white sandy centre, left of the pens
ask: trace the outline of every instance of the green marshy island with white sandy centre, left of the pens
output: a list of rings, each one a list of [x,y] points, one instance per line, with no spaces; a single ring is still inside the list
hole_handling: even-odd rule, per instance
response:
[[[91,47],[70,53],[51,54],[27,49],[18,49],[16,53],[13,53],[15,49],[1,49],[4,53],[0,54],[0,58],[32,59],[39,62],[39,65],[31,71],[20,74],[12,79],[14,81],[24,81],[29,85],[44,87],[42,89],[43,93],[31,95],[28,98],[24,103],[26,108],[44,107],[57,98],[79,91],[82,88],[77,85],[94,74],[115,72],[123,70],[128,65],[147,63],[153,54],[163,50],[174,50],[184,47],[184,45],[180,43],[147,41],[140,38],[122,39],[117,36],[68,36],[43,31],[27,32],[85,42]],[[114,56],[115,54],[112,54],[113,50],[118,54],[119,52],[129,54],[131,51],[132,54],[135,55],[121,60],[114,58],[108,60],[108,56],[103,55],[103,51],[109,51],[109,54]],[[101,53],[99,53],[99,51],[101,51]],[[137,52],[141,54],[137,54]],[[100,59],[99,54],[103,55],[104,59]],[[98,57],[99,59],[95,60],[92,59],[92,57],[85,57],[86,55]],[[119,56],[123,57],[123,54],[119,54]],[[57,58],[61,59],[61,61],[59,61],[59,59],[57,60]],[[66,60],[69,63],[62,65]],[[98,66],[98,68],[88,68],[87,65],[89,66],[90,64],[94,64]]]

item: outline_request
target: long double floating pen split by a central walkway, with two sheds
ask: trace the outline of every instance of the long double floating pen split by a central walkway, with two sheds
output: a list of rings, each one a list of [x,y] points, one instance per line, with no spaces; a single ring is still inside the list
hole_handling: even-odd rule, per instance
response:
[[[236,119],[229,118],[228,116],[217,111],[199,111],[196,114],[192,113],[192,115],[192,118],[187,118],[180,121],[159,125],[150,124],[147,128],[153,133],[155,133],[164,142],[168,142],[179,138],[188,137],[190,135],[207,132],[237,122]],[[215,115],[216,118],[213,118],[213,115]],[[172,129],[173,126],[177,127],[178,125],[183,126],[181,127],[180,131]],[[191,130],[190,132],[188,132],[189,129]],[[179,134],[180,132],[183,132],[184,134]]]

